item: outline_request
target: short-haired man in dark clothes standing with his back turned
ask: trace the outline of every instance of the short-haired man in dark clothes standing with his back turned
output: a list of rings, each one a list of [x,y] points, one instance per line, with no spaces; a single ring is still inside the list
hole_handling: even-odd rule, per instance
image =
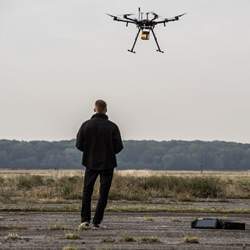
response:
[[[93,227],[96,229],[103,219],[114,168],[117,166],[116,154],[123,149],[123,144],[118,126],[109,121],[106,115],[106,102],[97,100],[94,111],[91,119],[82,124],[76,147],[83,152],[82,164],[86,167],[80,228],[90,226],[91,197],[96,178],[100,176],[99,200],[93,218]]]

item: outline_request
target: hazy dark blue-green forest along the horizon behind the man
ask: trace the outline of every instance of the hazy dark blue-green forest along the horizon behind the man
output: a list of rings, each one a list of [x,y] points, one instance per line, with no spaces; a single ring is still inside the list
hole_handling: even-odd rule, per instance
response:
[[[119,169],[249,170],[250,144],[203,141],[124,141]],[[0,168],[81,168],[75,141],[0,140]]]

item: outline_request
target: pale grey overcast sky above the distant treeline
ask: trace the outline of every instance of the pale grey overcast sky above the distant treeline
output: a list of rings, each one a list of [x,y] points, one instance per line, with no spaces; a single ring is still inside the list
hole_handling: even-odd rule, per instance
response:
[[[105,13],[162,17],[136,28]],[[71,139],[108,102],[124,139],[250,142],[249,0],[0,0],[0,138]]]

